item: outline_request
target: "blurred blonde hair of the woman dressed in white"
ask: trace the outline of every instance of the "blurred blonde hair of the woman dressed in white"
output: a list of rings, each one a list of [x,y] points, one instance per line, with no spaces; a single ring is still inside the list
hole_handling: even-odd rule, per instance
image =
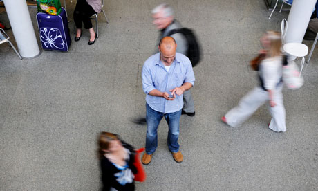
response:
[[[281,55],[281,33],[268,30],[266,36],[270,41],[270,49],[268,50],[268,57],[275,57]]]

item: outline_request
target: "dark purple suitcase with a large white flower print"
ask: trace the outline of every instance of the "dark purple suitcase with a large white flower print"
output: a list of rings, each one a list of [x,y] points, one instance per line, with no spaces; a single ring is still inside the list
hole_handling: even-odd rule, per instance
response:
[[[68,51],[71,45],[70,30],[66,11],[62,8],[59,15],[37,13],[37,26],[42,48],[52,51]]]

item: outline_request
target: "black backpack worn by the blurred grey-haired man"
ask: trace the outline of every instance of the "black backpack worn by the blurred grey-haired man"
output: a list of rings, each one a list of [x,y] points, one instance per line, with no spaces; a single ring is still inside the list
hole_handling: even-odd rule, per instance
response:
[[[198,40],[196,39],[196,35],[194,35],[193,30],[189,28],[176,28],[171,30],[167,36],[174,35],[176,33],[181,33],[187,39],[187,57],[191,61],[192,67],[196,66],[198,62],[200,62],[200,46],[198,44]],[[178,46],[178,45],[177,45]]]

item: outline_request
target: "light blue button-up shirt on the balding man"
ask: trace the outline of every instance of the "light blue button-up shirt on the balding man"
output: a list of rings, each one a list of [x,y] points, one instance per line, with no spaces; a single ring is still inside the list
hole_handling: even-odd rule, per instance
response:
[[[169,71],[160,60],[160,53],[149,57],[142,67],[142,89],[146,93],[146,102],[149,106],[161,113],[174,113],[183,108],[183,95],[176,95],[174,100],[163,97],[151,96],[149,92],[158,89],[171,94],[169,90],[180,87],[185,82],[194,85],[194,71],[188,57],[176,53],[174,62]]]

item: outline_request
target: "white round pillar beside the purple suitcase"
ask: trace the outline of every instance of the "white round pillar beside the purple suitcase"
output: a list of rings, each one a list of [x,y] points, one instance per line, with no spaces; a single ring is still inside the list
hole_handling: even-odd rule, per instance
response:
[[[39,46],[35,37],[26,0],[3,0],[15,41],[22,57],[39,55]]]

